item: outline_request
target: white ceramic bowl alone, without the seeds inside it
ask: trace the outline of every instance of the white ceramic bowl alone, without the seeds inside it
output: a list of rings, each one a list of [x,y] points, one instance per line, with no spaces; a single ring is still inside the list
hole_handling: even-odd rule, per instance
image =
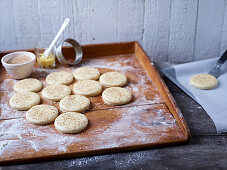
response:
[[[16,56],[28,56],[31,58],[29,62],[23,64],[8,64],[7,62]],[[27,51],[13,52],[2,57],[2,65],[5,67],[7,73],[10,77],[14,79],[23,79],[31,75],[34,64],[35,64],[35,54]]]

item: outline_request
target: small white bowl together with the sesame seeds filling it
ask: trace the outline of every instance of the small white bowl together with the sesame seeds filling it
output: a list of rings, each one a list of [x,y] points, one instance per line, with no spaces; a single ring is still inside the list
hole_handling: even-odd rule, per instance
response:
[[[27,51],[13,52],[2,57],[2,65],[10,77],[23,79],[31,75],[36,56]]]

